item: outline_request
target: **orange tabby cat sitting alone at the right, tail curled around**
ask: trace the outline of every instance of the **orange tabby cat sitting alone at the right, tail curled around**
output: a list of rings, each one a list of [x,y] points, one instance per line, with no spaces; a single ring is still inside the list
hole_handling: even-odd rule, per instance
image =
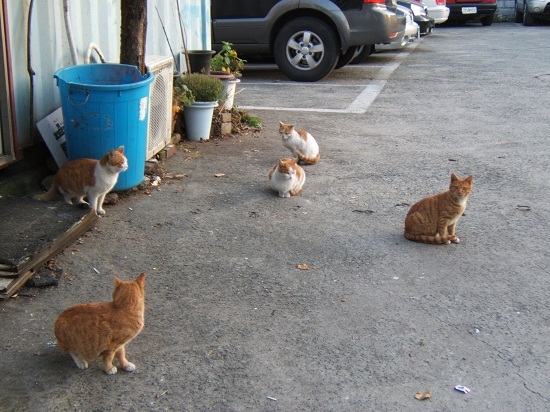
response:
[[[473,176],[461,179],[452,173],[447,192],[414,204],[405,218],[405,237],[421,243],[459,243],[456,223],[466,209],[472,180]]]

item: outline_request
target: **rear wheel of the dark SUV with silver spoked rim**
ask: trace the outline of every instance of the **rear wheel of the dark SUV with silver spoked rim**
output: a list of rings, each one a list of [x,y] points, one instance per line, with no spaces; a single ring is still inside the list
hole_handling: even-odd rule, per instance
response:
[[[302,17],[285,24],[275,37],[273,54],[279,69],[299,82],[315,82],[329,74],[340,56],[334,31],[322,20]]]

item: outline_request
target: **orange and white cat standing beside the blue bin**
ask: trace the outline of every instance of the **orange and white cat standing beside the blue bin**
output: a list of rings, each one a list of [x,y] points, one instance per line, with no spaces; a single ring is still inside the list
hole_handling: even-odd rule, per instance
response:
[[[75,159],[61,165],[54,176],[50,190],[34,198],[54,200],[61,193],[65,202],[84,203],[104,215],[103,201],[105,195],[116,185],[118,175],[128,169],[128,160],[124,156],[124,146],[111,149],[101,160]],[[84,196],[88,202],[84,201]]]

